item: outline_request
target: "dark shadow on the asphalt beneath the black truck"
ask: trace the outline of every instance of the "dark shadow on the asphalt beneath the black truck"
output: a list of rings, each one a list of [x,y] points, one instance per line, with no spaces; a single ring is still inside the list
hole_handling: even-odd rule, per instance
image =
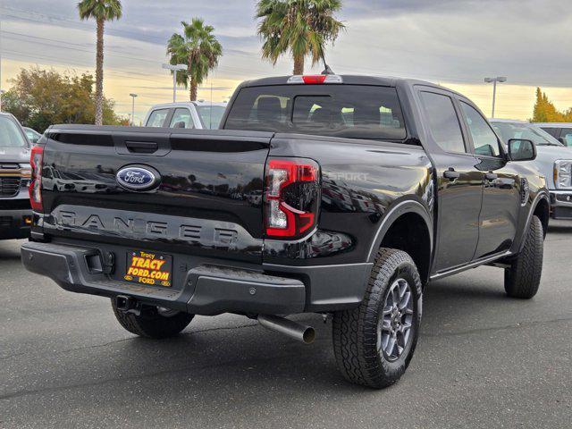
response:
[[[423,371],[424,355],[434,353],[426,346],[425,336],[470,332],[475,320],[486,320],[491,312],[501,313],[507,305],[518,305],[505,298],[500,281],[491,283],[467,287],[462,280],[447,280],[430,286],[416,357],[400,384],[414,380],[416,373]],[[247,318],[214,327],[215,319],[198,317],[176,338],[114,341],[90,349],[85,365],[74,362],[73,366],[82,368],[80,379],[89,380],[93,377],[86,374],[92,371],[88,362],[103,363],[103,367],[93,370],[111,376],[110,383],[137,383],[147,395],[162,401],[181,401],[194,395],[195,406],[199,407],[240,394],[240,408],[248,408],[248,395],[257,396],[261,390],[268,392],[268,402],[278,396],[285,407],[296,401],[300,390],[378,392],[346,383],[338,373],[332,353],[331,321],[324,324],[319,315],[293,318],[315,326],[317,340],[313,345],[305,346],[267,331]],[[195,322],[199,327],[194,327]],[[261,406],[260,400],[251,405],[252,412]]]

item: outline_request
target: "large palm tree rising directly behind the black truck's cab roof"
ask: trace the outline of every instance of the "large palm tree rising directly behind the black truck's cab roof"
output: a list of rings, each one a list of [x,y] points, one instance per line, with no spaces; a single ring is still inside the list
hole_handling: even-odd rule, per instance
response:
[[[304,60],[312,64],[324,56],[324,45],[338,37],[345,26],[334,18],[341,0],[260,0],[257,4],[257,33],[263,38],[262,57],[276,64],[290,52],[294,74],[304,73]]]

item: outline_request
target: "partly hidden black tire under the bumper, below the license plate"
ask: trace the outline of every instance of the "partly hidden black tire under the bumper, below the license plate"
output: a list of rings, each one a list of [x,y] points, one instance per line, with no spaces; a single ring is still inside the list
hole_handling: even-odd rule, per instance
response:
[[[156,307],[144,307],[141,315],[119,311],[115,300],[111,300],[117,321],[127,331],[146,338],[170,338],[187,327],[195,315],[178,312],[173,315],[161,315]]]

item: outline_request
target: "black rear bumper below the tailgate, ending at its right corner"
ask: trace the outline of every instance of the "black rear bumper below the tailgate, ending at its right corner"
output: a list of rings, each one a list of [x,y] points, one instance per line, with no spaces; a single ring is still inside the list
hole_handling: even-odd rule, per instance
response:
[[[119,282],[105,273],[90,273],[88,260],[97,248],[28,242],[21,247],[22,264],[46,275],[64,290],[105,297],[126,295],[143,304],[186,311],[195,315],[294,314],[306,305],[306,288],[296,279],[216,265],[190,269],[179,288]],[[93,271],[93,270],[92,270]]]

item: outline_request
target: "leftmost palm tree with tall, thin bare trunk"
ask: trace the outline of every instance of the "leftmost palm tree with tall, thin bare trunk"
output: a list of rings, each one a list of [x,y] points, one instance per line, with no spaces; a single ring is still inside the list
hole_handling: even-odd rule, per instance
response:
[[[105,21],[122,17],[120,0],[82,0],[78,3],[81,20],[94,18],[97,22],[96,54],[96,125],[103,122],[104,111],[104,29]]]

